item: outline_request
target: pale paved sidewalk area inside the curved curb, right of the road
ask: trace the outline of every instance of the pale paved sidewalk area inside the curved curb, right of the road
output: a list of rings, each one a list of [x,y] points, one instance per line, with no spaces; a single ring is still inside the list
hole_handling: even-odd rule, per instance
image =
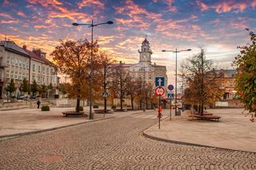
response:
[[[144,131],[150,138],[180,143],[200,144],[217,148],[230,148],[247,152],[256,152],[256,123],[250,116],[242,114],[243,109],[209,109],[222,117],[219,121],[200,121],[188,117],[172,116],[162,121],[161,129],[154,125]],[[166,109],[164,112],[170,112]],[[173,111],[174,113],[174,111]]]

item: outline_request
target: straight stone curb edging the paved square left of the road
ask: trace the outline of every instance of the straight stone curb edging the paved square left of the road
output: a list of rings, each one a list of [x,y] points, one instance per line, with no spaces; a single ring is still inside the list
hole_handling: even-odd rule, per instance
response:
[[[92,122],[96,122],[96,121],[104,121],[104,120],[113,119],[113,118],[114,117],[101,118],[101,119],[97,119],[94,121],[85,121],[85,122],[80,122],[77,124],[64,125],[64,126],[59,126],[59,127],[55,127],[55,128],[46,128],[46,129],[32,131],[32,132],[20,132],[20,133],[15,133],[15,134],[10,134],[10,135],[3,135],[3,136],[0,136],[0,139],[5,138],[5,137],[19,137],[19,136],[32,135],[32,134],[36,134],[36,133],[40,133],[40,132],[48,132],[48,131],[53,131],[53,130],[57,130],[60,128],[67,128],[67,127],[71,127],[71,126],[75,126],[75,125],[82,125],[82,124],[92,123]],[[1,140],[0,140],[0,142],[1,142]]]

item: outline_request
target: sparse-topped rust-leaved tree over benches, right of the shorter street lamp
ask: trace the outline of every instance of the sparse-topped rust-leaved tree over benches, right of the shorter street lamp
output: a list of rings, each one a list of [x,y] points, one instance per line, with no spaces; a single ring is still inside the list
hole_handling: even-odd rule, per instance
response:
[[[206,59],[203,49],[201,53],[182,63],[181,72],[188,87],[184,94],[185,102],[198,105],[198,113],[203,114],[205,104],[221,99],[223,89],[220,88],[217,78],[221,77],[222,73],[215,71],[212,61]]]

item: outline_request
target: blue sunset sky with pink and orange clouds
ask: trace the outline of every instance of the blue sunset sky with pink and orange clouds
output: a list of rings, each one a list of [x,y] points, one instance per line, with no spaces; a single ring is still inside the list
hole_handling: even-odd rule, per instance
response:
[[[219,69],[232,69],[237,46],[249,42],[245,28],[256,32],[256,0],[0,0],[0,40],[42,49],[48,59],[59,40],[90,40],[90,28],[72,23],[92,20],[114,22],[95,27],[94,40],[127,64],[138,62],[147,37],[152,62],[166,65],[174,84],[175,53],[162,49],[192,49],[178,53],[178,69],[200,48]]]

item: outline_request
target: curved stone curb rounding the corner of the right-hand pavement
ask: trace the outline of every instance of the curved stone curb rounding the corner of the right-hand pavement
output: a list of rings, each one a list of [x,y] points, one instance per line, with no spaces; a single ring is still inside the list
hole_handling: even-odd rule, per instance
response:
[[[167,117],[166,117],[167,118]],[[166,118],[164,120],[166,120]],[[162,121],[164,121],[162,120]],[[154,125],[153,125],[154,126]],[[153,126],[150,126],[149,128],[152,128]],[[221,147],[215,147],[215,146],[209,146],[209,145],[204,145],[204,144],[193,144],[190,142],[182,142],[182,141],[177,141],[177,140],[167,140],[165,138],[161,138],[161,137],[156,137],[156,136],[152,136],[147,134],[145,131],[149,128],[144,129],[142,132],[140,132],[142,134],[142,136],[145,136],[151,140],[158,140],[158,141],[163,141],[166,143],[171,143],[171,144],[183,144],[183,145],[188,145],[188,146],[196,146],[196,147],[205,147],[205,148],[215,148],[215,149],[221,149],[221,150],[225,150],[225,151],[236,151],[236,152],[249,152],[249,153],[256,153],[256,152],[250,152],[250,151],[242,151],[242,150],[238,150],[238,149],[232,149],[232,148],[221,148]]]

